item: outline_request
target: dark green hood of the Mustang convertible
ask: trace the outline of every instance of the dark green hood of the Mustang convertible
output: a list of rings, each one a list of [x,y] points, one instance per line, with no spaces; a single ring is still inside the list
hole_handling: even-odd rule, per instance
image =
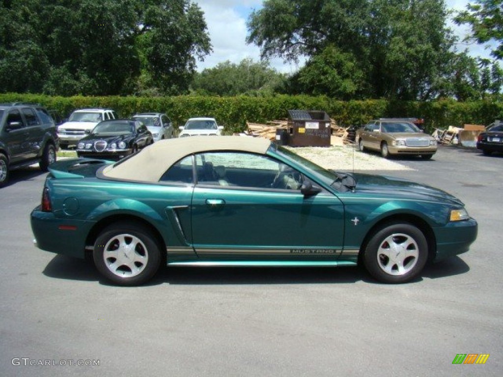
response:
[[[435,189],[426,184],[412,182],[386,175],[353,174],[357,179],[356,192],[373,196],[392,197],[417,201],[450,202],[463,206],[463,203],[445,191]]]

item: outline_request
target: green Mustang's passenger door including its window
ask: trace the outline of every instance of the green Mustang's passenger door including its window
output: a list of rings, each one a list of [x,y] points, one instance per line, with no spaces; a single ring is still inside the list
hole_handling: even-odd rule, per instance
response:
[[[341,201],[324,191],[304,197],[300,184],[308,178],[295,169],[234,152],[200,154],[196,164],[191,216],[200,258],[334,259],[341,252]]]

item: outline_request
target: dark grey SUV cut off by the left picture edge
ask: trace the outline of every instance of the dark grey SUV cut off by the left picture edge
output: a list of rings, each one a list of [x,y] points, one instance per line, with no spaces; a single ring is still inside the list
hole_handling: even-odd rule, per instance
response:
[[[0,104],[0,186],[9,171],[34,163],[47,171],[56,161],[56,126],[49,112],[28,103]]]

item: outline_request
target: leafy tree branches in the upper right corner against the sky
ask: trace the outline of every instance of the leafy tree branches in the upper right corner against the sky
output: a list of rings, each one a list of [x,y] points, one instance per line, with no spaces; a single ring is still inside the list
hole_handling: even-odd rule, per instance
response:
[[[454,18],[458,25],[468,24],[472,35],[465,41],[475,40],[483,44],[496,42],[491,55],[496,59],[503,59],[503,0],[474,0],[475,4],[468,4],[466,11],[459,12]]]

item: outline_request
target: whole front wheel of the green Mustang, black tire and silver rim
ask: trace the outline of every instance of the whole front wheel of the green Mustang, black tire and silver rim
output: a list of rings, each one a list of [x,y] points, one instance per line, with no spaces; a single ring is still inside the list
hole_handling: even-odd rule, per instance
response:
[[[377,280],[403,283],[416,277],[428,259],[428,242],[415,226],[390,224],[378,229],[364,250],[365,268]]]

